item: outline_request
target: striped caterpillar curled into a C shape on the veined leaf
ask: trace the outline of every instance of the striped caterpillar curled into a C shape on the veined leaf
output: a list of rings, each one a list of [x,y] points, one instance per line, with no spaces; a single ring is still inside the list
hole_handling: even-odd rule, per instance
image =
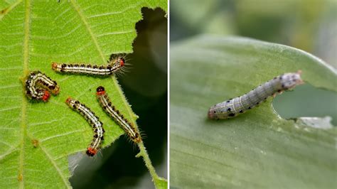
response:
[[[58,95],[60,92],[60,86],[50,77],[46,76],[40,71],[30,72],[26,79],[26,95],[30,99],[38,99],[47,102],[50,93],[53,95]]]

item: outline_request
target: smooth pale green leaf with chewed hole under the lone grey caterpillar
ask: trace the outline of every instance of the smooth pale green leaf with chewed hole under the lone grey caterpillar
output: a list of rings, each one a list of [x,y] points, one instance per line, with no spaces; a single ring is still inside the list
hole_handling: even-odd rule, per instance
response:
[[[181,188],[336,188],[336,127],[279,117],[272,99],[234,119],[209,120],[210,106],[284,72],[337,90],[319,58],[247,38],[199,36],[171,44],[170,185]],[[296,88],[294,89],[296,91]]]

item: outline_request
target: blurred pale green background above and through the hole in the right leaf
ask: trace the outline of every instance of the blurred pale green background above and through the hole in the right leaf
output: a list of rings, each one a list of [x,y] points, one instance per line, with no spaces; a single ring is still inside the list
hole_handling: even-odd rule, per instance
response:
[[[172,0],[170,43],[204,33],[244,36],[305,50],[336,70],[336,18],[336,0]],[[330,116],[337,125],[336,93],[309,84],[278,95],[273,106],[287,119]]]

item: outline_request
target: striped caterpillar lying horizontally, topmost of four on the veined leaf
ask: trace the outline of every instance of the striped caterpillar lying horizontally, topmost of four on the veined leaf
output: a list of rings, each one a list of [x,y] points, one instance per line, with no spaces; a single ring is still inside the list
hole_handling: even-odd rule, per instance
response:
[[[66,72],[72,74],[85,74],[85,75],[100,75],[107,76],[117,72],[125,65],[125,60],[122,56],[110,56],[108,65],[90,65],[90,64],[67,64],[53,62],[51,68],[56,72]]]

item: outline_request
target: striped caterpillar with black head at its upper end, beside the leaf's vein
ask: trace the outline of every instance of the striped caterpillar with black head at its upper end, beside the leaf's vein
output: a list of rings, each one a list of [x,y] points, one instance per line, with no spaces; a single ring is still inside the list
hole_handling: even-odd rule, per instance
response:
[[[129,122],[127,119],[124,118],[124,116],[119,112],[116,107],[112,105],[111,100],[107,96],[107,93],[105,92],[105,88],[100,86],[97,87],[96,95],[98,102],[100,102],[101,107],[109,114],[114,121],[119,124],[119,126],[122,127],[122,129],[127,133],[127,135],[134,141],[135,143],[141,142],[141,136],[139,134],[139,131]]]

